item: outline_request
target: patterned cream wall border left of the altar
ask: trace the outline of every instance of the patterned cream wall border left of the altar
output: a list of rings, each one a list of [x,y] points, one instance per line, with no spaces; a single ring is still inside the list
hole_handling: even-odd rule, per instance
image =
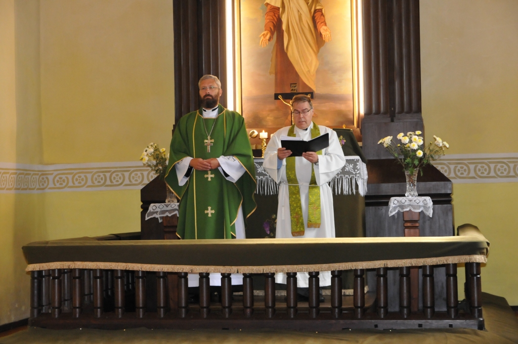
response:
[[[155,178],[140,162],[59,165],[0,163],[0,193],[139,190]]]

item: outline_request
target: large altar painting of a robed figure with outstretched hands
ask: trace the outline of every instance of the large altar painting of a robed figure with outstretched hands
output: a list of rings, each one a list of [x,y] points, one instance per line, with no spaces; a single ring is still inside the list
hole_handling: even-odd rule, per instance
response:
[[[358,126],[356,3],[234,1],[235,105],[247,130],[291,125],[296,94],[311,96],[315,123]]]

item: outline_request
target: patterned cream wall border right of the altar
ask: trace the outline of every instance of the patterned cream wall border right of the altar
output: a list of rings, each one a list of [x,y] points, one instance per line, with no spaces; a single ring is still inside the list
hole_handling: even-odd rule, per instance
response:
[[[518,182],[518,153],[447,154],[433,164],[454,184]]]

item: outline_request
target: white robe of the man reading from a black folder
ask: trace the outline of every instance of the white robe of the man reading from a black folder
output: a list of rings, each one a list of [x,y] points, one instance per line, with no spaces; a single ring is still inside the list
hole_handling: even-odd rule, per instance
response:
[[[306,130],[300,130],[295,127],[296,137],[300,137],[305,141],[311,139],[311,126]],[[290,217],[290,197],[288,194],[288,185],[286,179],[286,160],[277,158],[277,149],[281,147],[281,136],[287,136],[289,126],[281,128],[271,136],[270,142],[264,153],[263,167],[268,174],[279,185],[279,206],[277,208],[277,232],[276,238],[334,238],[335,237],[335,218],[333,211],[333,193],[327,184],[333,179],[340,169],[345,165],[346,159],[338,141],[338,136],[334,130],[319,125],[320,135],[329,133],[329,147],[322,150],[319,155],[319,161],[314,165],[316,184],[320,185],[320,228],[308,228],[308,198],[309,198],[309,182],[311,180],[311,163],[304,157],[295,157],[295,168],[297,171],[297,179],[301,184],[300,203],[304,217],[305,232],[303,236],[294,237],[291,234],[291,217]],[[319,275],[320,285],[331,285],[331,273],[329,271],[321,272]],[[286,283],[285,274],[276,274],[277,283]],[[308,287],[308,273],[297,274],[297,286],[300,288]]]

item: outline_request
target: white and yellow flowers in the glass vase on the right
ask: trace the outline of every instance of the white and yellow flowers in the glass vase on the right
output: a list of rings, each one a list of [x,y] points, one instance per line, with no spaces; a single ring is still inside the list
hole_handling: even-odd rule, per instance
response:
[[[430,142],[428,146],[424,147],[423,137],[419,136],[421,134],[420,131],[408,132],[407,135],[399,133],[397,139],[401,141],[400,144],[396,144],[392,136],[382,138],[378,144],[383,144],[383,147],[394,155],[403,166],[403,169],[413,175],[415,170],[439,159],[444,155],[444,149],[450,147],[448,142],[435,135],[435,142]],[[421,175],[423,175],[422,169]]]

